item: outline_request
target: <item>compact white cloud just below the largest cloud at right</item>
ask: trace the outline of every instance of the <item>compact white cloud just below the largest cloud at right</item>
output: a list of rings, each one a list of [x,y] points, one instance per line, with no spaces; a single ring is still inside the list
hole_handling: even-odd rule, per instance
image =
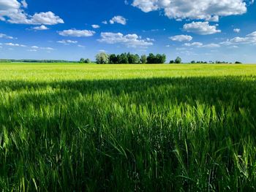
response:
[[[207,34],[217,34],[220,33],[221,30],[217,29],[217,26],[210,26],[210,24],[206,22],[192,22],[187,23],[183,26],[183,29],[187,32],[192,32],[195,34],[207,35]]]

